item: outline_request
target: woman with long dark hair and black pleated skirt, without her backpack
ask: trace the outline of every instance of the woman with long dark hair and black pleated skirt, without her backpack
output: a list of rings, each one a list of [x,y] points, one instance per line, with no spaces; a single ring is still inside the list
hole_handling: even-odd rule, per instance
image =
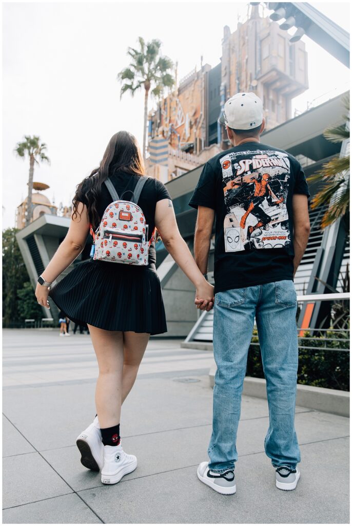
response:
[[[165,248],[195,286],[197,308],[213,307],[213,286],[201,274],[180,235],[167,189],[144,174],[136,138],[127,131],[113,135],[100,166],[77,186],[69,230],[38,278],[35,292],[40,305],[49,308],[50,296],[70,320],[88,324],[99,366],[97,416],[78,436],[77,446],[81,463],[89,469],[101,469],[105,484],[119,482],[137,467],[136,457],[122,450],[121,404],[136,380],[149,337],[167,331],[156,272],[155,227]],[[146,180],[138,206],[148,225],[148,265],[89,259],[50,288],[84,249],[90,227],[98,232],[106,208],[114,201],[109,185],[121,199],[126,194],[125,200],[130,201],[141,178]]]

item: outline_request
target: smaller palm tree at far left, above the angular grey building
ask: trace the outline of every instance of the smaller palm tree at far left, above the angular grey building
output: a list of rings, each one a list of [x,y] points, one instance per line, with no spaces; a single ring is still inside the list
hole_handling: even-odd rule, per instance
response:
[[[25,135],[25,140],[17,143],[15,152],[19,157],[29,157],[29,178],[28,178],[28,198],[27,198],[27,215],[26,215],[26,226],[29,225],[30,219],[32,219],[32,191],[33,191],[33,174],[34,165],[39,161],[47,161],[50,163],[50,159],[47,157],[45,150],[46,144],[40,142],[40,137],[37,135]]]

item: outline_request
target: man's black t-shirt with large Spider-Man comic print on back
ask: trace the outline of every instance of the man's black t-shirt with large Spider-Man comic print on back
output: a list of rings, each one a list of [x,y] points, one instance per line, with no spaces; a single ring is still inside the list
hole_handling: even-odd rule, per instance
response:
[[[251,142],[203,167],[189,205],[215,210],[215,292],[293,279],[293,194],[309,197],[302,166]]]

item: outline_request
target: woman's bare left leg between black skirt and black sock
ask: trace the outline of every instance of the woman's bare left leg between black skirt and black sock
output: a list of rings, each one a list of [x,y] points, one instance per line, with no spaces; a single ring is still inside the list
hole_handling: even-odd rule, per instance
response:
[[[96,408],[100,428],[105,429],[120,423],[123,334],[121,331],[98,329],[92,325],[88,327],[99,366]]]

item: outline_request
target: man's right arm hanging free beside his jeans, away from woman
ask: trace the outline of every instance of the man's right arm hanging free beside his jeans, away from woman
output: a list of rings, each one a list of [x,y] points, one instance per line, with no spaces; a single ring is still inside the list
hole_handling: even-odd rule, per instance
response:
[[[295,257],[293,260],[293,275],[296,274],[299,263],[305,252],[309,233],[310,222],[308,214],[308,198],[304,194],[294,194],[292,200],[293,207],[293,247]]]

